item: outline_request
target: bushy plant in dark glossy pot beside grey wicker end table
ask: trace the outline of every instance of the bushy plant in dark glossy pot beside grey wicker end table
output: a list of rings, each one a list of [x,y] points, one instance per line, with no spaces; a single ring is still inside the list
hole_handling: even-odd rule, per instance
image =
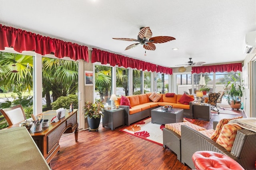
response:
[[[100,126],[100,117],[104,117],[103,115],[103,109],[104,105],[100,100],[96,100],[94,103],[91,102],[85,102],[84,103],[84,117],[87,117],[88,124],[89,124],[89,131],[96,130],[98,131],[98,128]]]

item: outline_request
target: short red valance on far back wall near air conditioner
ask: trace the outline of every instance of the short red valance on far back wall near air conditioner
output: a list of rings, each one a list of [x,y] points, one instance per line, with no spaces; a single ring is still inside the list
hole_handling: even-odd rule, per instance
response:
[[[221,65],[208,65],[200,67],[192,67],[193,73],[211,73],[211,72],[224,72],[224,71],[242,71],[242,63],[232,63],[232,64],[221,64]]]

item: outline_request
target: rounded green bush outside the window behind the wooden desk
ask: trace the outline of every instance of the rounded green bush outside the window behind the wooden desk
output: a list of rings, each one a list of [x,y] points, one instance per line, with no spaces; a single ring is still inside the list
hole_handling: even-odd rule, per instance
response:
[[[66,108],[69,109],[70,103],[73,102],[74,109],[78,108],[78,99],[77,95],[68,95],[68,96],[61,96],[58,99],[51,103],[52,109],[57,110],[59,108]]]

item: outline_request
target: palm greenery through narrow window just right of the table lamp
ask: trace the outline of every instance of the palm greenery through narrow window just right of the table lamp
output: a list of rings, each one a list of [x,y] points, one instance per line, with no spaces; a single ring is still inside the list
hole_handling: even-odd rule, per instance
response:
[[[128,96],[128,76],[129,70],[116,67],[116,96]]]

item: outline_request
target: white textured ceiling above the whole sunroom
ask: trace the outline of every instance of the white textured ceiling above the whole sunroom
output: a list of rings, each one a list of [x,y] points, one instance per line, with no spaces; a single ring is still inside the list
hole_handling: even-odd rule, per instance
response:
[[[0,24],[96,47],[166,67],[192,57],[205,64],[243,61],[245,35],[256,30],[256,0],[0,0]],[[149,26],[176,40],[155,51],[112,38]],[[172,48],[179,48],[174,51]]]

